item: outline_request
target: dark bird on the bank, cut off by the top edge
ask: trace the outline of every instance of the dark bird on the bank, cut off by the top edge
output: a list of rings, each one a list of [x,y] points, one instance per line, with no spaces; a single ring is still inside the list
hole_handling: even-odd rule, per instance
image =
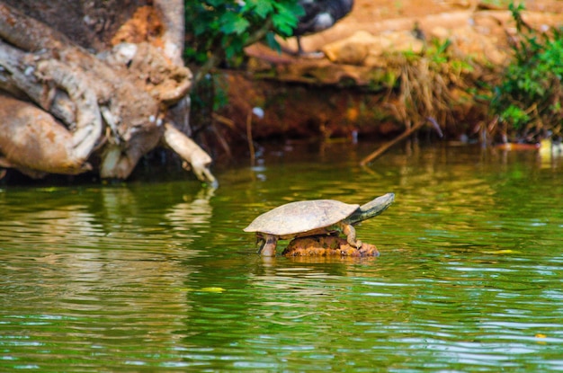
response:
[[[305,14],[299,17],[299,23],[293,36],[297,37],[298,54],[303,54],[300,36],[324,31],[335,25],[352,11],[353,0],[299,0]]]

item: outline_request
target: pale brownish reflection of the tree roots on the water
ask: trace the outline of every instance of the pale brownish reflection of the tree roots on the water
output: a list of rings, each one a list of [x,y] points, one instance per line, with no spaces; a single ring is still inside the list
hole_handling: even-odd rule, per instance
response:
[[[197,195],[193,207],[180,196],[162,209],[147,206],[128,188],[82,193],[81,204],[66,193],[49,193],[33,205],[4,205],[0,328],[14,328],[15,334],[5,335],[4,342],[0,338],[0,344],[40,348],[24,348],[20,357],[8,353],[16,361],[13,368],[49,369],[53,364],[54,370],[62,369],[56,367],[66,364],[67,344],[105,360],[111,351],[129,349],[127,341],[155,344],[157,354],[181,338],[174,331],[190,307],[184,301],[184,280],[194,271],[183,261],[197,251],[183,250],[174,238],[209,225],[212,193]],[[186,210],[200,218],[174,220]],[[177,226],[170,232],[158,229],[163,221]],[[43,362],[48,345],[61,346],[60,359]],[[30,360],[40,363],[25,363]]]

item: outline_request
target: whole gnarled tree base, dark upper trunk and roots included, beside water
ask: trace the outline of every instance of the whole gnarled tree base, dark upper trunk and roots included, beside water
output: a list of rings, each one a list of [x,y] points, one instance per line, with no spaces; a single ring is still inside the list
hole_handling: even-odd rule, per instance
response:
[[[105,8],[85,0],[12,4],[38,19],[8,3],[0,2],[0,90],[18,100],[0,96],[0,166],[32,176],[81,173],[100,157],[103,177],[124,179],[161,144],[215,183],[210,156],[174,128],[174,120],[185,127],[192,84],[181,58],[182,0],[155,1],[156,8],[117,2],[115,9],[107,8],[111,1]],[[117,29],[110,21],[123,8],[131,16]]]

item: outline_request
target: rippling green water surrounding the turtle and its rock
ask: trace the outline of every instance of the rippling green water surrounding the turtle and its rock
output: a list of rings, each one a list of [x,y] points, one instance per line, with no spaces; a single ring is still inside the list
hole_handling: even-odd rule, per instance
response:
[[[0,189],[0,371],[563,371],[563,169],[533,153],[270,148],[255,167]],[[396,202],[380,258],[263,260],[281,203]],[[283,243],[281,244],[283,246]]]

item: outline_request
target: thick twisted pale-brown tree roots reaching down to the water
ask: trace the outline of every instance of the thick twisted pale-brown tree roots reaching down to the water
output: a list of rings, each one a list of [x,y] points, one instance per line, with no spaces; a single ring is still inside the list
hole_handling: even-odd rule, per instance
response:
[[[216,182],[210,156],[173,123],[163,126],[168,108],[185,102],[192,74],[180,65],[181,49],[169,45],[178,39],[182,25],[175,18],[183,14],[172,14],[166,2],[156,3],[165,4],[162,16],[174,29],[165,36],[174,62],[147,43],[122,44],[96,57],[0,3],[0,90],[42,109],[2,97],[2,165],[35,176],[79,173],[95,155],[101,158],[102,177],[124,179],[142,155],[164,143],[183,158],[185,168],[192,165],[201,181]]]

